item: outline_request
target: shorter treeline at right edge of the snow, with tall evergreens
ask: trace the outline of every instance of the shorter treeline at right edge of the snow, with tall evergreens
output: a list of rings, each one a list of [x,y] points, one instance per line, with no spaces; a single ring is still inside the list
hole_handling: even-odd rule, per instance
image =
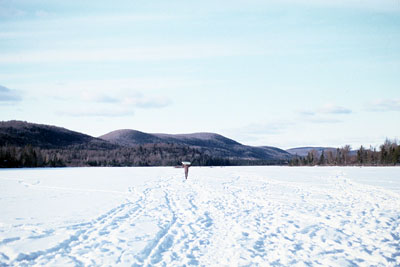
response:
[[[308,152],[305,157],[294,157],[291,166],[390,166],[400,164],[400,145],[397,141],[387,139],[379,146],[369,149],[361,146],[357,151],[352,151],[349,145],[336,150],[327,150],[318,153],[316,150]]]

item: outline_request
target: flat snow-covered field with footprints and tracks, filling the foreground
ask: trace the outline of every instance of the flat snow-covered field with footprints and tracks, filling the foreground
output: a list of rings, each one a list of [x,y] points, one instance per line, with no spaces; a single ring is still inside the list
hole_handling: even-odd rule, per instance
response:
[[[0,266],[400,266],[400,168],[0,170]]]

